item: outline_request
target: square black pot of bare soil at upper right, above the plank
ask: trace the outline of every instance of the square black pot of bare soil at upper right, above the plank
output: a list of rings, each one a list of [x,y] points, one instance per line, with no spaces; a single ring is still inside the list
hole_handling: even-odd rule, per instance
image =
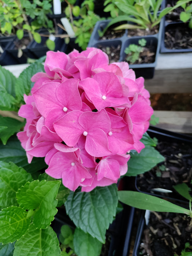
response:
[[[161,53],[192,52],[192,29],[188,23],[167,22],[164,18],[164,26],[161,37]]]

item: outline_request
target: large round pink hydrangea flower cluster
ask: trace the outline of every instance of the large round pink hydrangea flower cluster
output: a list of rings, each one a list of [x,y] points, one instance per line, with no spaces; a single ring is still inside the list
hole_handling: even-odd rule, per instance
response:
[[[28,162],[45,157],[45,172],[73,191],[116,183],[129,151],[144,148],[153,113],[144,79],[135,79],[126,62],[109,64],[96,48],[49,51],[44,69],[32,77],[18,113],[26,118],[17,136]]]

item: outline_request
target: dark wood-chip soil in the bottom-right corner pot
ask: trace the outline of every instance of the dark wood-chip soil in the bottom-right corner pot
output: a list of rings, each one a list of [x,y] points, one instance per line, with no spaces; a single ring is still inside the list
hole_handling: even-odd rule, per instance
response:
[[[191,252],[191,230],[186,231],[189,222],[190,218],[184,214],[151,212],[138,255],[179,256],[187,242],[190,247],[186,251]]]

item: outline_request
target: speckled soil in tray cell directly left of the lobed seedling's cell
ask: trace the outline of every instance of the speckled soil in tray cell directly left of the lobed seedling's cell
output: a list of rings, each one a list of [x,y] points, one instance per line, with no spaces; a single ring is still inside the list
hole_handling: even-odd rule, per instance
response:
[[[111,45],[109,46],[103,46],[103,45],[98,45],[97,48],[101,49],[103,52],[105,52],[108,57],[109,57],[109,62],[118,62],[120,58],[120,50],[121,50],[121,45],[119,44],[117,47]]]

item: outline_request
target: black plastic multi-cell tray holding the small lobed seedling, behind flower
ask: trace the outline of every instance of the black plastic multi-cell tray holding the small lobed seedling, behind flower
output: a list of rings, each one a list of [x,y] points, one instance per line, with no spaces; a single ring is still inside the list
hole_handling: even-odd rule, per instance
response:
[[[157,65],[158,52],[160,50],[162,21],[160,23],[159,32],[155,35],[129,37],[129,30],[125,30],[125,33],[122,36],[117,37],[116,39],[106,39],[106,40],[100,39],[98,30],[102,31],[109,22],[110,22],[109,20],[105,20],[105,21],[98,21],[96,23],[94,30],[91,34],[88,47],[98,47],[98,45],[101,47],[110,46],[110,45],[113,45],[114,47],[116,47],[116,45],[120,44],[121,51],[120,51],[119,61],[125,61],[125,52],[124,52],[125,48],[129,44],[133,44],[133,43],[138,44],[138,40],[141,38],[144,38],[147,41],[146,45],[149,45],[151,43],[155,45],[155,48],[156,48],[155,61],[153,63],[133,64],[133,65],[129,65],[129,67],[135,71],[136,78],[138,78],[139,76],[143,76],[146,79],[153,78],[155,67]]]

